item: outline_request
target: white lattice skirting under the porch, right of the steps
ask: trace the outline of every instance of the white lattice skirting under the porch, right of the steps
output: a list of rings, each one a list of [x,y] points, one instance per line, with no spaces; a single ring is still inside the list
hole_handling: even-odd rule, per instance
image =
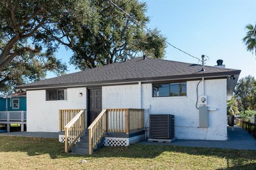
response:
[[[133,143],[140,142],[145,139],[145,135],[141,134],[131,138],[114,138],[105,137],[103,146],[116,147],[116,146],[129,146]]]

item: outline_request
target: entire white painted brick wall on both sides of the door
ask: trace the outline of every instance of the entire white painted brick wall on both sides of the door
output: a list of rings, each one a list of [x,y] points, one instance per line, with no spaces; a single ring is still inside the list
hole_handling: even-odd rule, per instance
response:
[[[209,128],[197,128],[198,109],[195,105],[198,82],[187,82],[187,97],[153,98],[150,83],[141,86],[139,84],[105,86],[102,87],[102,108],[144,108],[147,126],[149,126],[149,114],[173,114],[175,137],[178,139],[226,140],[226,79],[204,82],[207,106],[217,108],[217,111],[209,111]],[[45,101],[45,90],[27,91],[27,130],[57,132],[59,109],[86,108],[86,88],[71,88],[67,89],[67,92],[67,101]],[[79,92],[83,92],[82,97],[78,96]],[[201,95],[202,83],[198,86],[198,96]]]

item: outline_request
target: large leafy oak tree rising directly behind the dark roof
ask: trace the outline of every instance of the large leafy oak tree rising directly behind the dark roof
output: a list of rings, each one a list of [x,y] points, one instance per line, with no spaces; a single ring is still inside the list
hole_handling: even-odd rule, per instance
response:
[[[140,23],[149,22],[146,3],[138,0],[114,2]],[[164,57],[165,37],[157,29],[152,30],[154,33],[147,32],[109,1],[90,3],[94,13],[92,23],[84,24],[66,15],[55,27],[44,27],[45,35],[73,50],[70,64],[84,70],[141,55]]]

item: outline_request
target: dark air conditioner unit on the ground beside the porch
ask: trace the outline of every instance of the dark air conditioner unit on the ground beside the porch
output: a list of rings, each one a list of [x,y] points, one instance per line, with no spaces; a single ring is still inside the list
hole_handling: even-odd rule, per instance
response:
[[[173,139],[174,138],[174,115],[150,114],[149,115],[149,138]]]

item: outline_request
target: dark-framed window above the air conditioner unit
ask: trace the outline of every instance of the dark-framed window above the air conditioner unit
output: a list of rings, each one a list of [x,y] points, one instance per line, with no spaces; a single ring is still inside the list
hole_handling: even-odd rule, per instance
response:
[[[153,84],[153,97],[187,96],[187,83]]]

